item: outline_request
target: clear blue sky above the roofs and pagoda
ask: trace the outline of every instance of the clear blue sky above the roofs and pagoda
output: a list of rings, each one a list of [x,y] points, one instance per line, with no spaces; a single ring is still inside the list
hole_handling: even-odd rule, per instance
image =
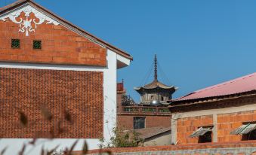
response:
[[[143,78],[155,53],[168,77],[160,74],[160,80],[179,87],[174,97],[256,71],[253,0],[35,2],[134,56],[130,67],[119,70],[118,79],[125,79],[136,100],[133,87],[152,80]]]

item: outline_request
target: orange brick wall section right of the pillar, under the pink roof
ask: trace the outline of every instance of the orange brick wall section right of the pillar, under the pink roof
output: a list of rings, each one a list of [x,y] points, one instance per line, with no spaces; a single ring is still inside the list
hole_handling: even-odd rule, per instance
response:
[[[243,111],[230,114],[217,115],[217,140],[241,141],[241,135],[230,135],[234,129],[242,126],[242,123],[256,120],[256,111]]]

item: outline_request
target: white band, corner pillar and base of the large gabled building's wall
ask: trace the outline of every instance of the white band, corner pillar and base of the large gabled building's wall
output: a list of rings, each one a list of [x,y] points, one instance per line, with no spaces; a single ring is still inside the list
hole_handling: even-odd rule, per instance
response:
[[[31,64],[31,63],[8,63],[0,62],[0,68],[35,68],[35,69],[54,69],[54,70],[72,70],[72,71],[103,71],[103,96],[104,96],[104,124],[103,136],[106,141],[109,141],[113,135],[113,127],[116,126],[116,68],[117,68],[117,54],[111,50],[107,50],[107,67],[91,67],[83,65],[45,65],[45,64]],[[75,150],[82,150],[84,141],[87,141],[89,149],[98,148],[100,144],[99,139],[80,139],[76,145]],[[31,139],[1,139],[0,150],[8,146],[5,155],[17,154],[21,149],[23,143],[27,143]],[[39,144],[31,150],[31,147],[26,148],[26,154],[40,154],[42,146],[49,150],[60,144],[60,149],[70,147],[76,139],[54,139],[48,141],[47,139],[39,139]]]

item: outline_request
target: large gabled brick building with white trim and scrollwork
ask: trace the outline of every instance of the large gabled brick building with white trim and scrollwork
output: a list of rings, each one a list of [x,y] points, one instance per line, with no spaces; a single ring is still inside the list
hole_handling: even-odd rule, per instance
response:
[[[0,138],[21,138],[17,146],[25,138],[87,138],[91,148],[109,139],[116,124],[116,71],[130,64],[128,53],[30,0],[0,10],[0,45]],[[72,124],[60,122],[66,111]],[[21,126],[21,114],[29,129]],[[15,145],[10,141],[0,146]]]

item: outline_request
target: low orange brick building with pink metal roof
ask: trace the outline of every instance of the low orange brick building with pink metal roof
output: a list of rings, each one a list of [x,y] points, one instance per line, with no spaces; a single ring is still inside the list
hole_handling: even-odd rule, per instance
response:
[[[251,141],[256,136],[256,73],[171,100],[176,144]]]

